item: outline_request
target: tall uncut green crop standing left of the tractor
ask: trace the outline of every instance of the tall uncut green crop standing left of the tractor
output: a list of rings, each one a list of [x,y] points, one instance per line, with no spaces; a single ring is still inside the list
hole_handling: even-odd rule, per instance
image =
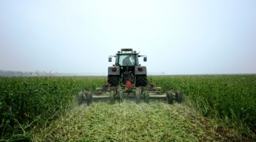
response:
[[[104,81],[102,77],[1,77],[1,138],[30,139],[30,130],[57,118],[76,100],[78,91],[93,90]]]

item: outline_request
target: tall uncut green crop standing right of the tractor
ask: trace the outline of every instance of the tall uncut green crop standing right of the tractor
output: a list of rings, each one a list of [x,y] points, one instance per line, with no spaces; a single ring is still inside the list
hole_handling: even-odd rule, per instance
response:
[[[182,91],[205,116],[256,131],[256,75],[182,75],[149,77],[167,90]]]

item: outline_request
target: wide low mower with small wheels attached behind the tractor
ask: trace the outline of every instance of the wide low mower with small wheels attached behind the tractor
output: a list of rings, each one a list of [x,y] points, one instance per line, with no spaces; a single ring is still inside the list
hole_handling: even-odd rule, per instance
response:
[[[139,88],[134,87],[129,89],[124,86],[103,86],[102,88],[96,88],[93,93],[84,91],[80,98],[81,100],[79,104],[87,102],[88,105],[92,104],[92,102],[123,102],[124,100],[132,100],[135,102],[152,102],[161,100],[168,102],[168,104],[173,104],[173,100],[177,99],[177,93],[173,93],[172,90],[163,93],[163,90],[160,87],[154,88],[151,86]],[[179,102],[179,100],[177,102]]]

